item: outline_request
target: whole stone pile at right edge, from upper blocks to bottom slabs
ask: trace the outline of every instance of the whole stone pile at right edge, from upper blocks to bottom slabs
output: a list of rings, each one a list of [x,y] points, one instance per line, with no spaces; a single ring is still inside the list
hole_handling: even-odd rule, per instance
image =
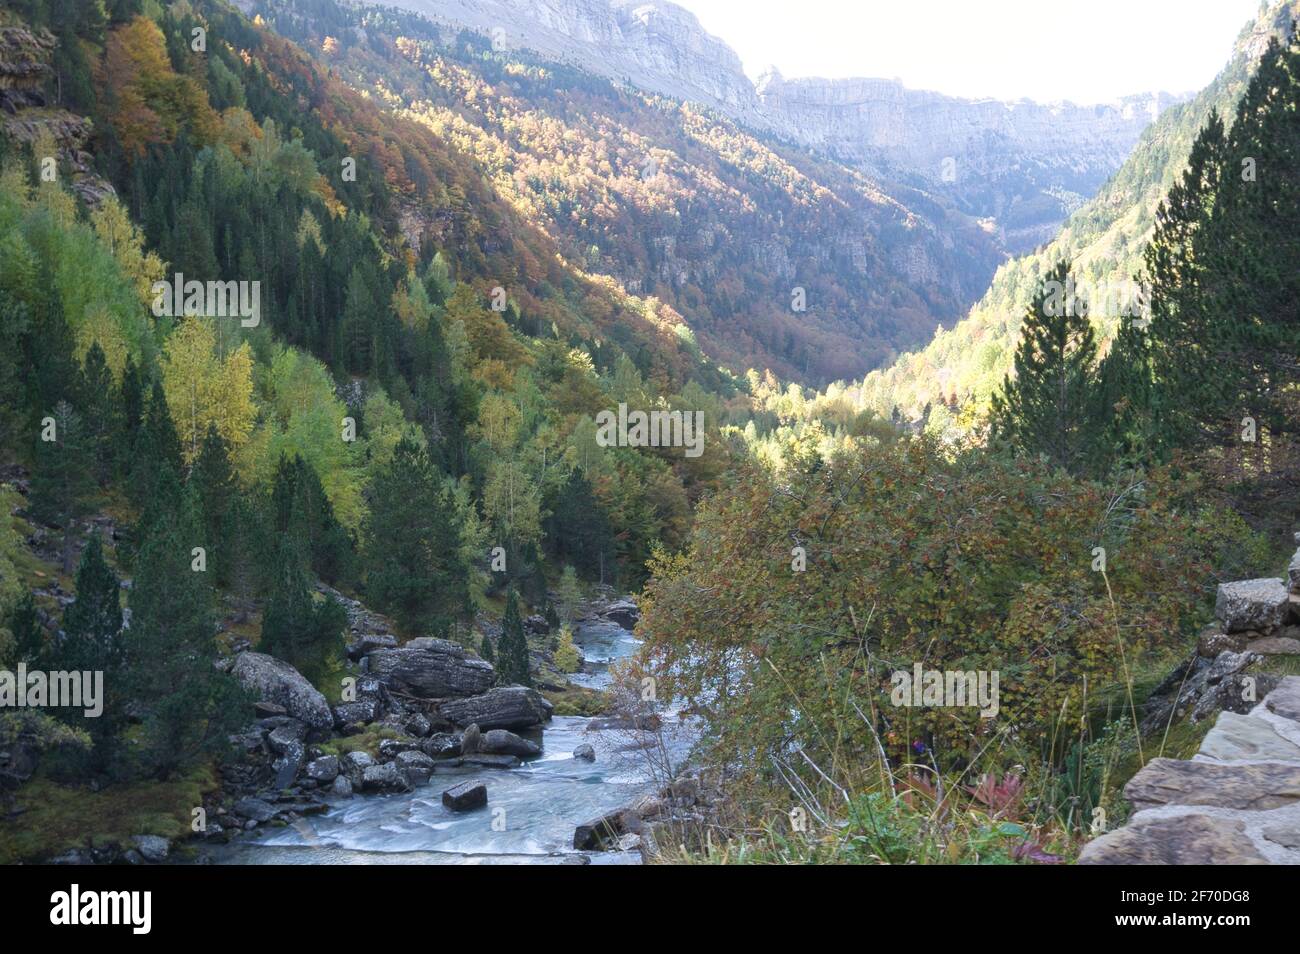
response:
[[[1300,656],[1300,550],[1286,580],[1221,586],[1216,615],[1147,716],[1158,729],[1217,712],[1214,727],[1191,759],[1152,759],[1128,781],[1135,814],[1080,864],[1300,864],[1300,677],[1260,671]]]

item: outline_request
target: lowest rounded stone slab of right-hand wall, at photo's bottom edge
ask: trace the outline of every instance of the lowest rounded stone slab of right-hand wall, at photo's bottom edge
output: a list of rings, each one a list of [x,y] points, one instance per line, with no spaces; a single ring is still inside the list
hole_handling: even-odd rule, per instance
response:
[[[1093,838],[1079,854],[1079,864],[1269,864],[1269,859],[1247,837],[1242,821],[1179,815],[1139,818]]]

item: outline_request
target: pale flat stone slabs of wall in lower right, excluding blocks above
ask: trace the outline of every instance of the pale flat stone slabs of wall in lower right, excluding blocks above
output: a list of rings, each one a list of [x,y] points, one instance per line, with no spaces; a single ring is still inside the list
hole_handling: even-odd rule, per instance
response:
[[[1221,714],[1191,762],[1152,759],[1124,797],[1134,816],[1080,864],[1300,864],[1300,677]]]

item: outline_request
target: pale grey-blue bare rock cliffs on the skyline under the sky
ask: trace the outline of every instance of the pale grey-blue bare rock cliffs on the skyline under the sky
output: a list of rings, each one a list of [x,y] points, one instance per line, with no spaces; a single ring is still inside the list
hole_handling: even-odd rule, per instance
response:
[[[966,100],[888,79],[786,81],[775,70],[755,86],[731,47],[663,0],[380,0],[390,1],[481,31],[498,49],[533,49],[699,103],[876,179],[922,186],[993,220],[1013,253],[1054,235],[1119,168],[1153,114],[1178,101],[1167,94],[1101,105]]]

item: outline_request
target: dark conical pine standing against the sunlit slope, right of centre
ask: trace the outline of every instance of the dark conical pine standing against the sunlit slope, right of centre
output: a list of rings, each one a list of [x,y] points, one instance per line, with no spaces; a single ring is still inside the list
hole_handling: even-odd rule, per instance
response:
[[[1097,342],[1060,263],[1039,287],[1015,350],[1015,372],[993,396],[996,438],[1046,455],[1071,473],[1087,469],[1096,445]]]

